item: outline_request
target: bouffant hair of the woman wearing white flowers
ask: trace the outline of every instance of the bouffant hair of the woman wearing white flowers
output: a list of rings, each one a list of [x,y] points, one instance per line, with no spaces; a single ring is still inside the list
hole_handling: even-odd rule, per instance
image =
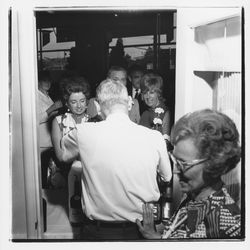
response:
[[[146,94],[148,91],[155,91],[158,98],[163,100],[163,79],[160,75],[154,72],[146,73],[141,79],[140,87],[142,94]]]

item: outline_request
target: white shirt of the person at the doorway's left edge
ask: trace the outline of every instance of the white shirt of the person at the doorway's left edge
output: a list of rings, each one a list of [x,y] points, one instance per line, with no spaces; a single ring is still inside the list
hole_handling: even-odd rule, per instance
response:
[[[39,142],[40,147],[48,148],[52,147],[51,141],[51,131],[49,128],[49,121],[48,121],[48,114],[46,110],[54,103],[52,99],[48,96],[43,94],[40,90],[38,91],[39,97]]]

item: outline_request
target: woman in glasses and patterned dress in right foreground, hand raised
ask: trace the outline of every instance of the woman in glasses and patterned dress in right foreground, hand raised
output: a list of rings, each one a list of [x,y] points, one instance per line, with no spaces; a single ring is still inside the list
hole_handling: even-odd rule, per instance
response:
[[[240,161],[239,134],[225,114],[210,109],[180,118],[171,131],[174,146],[169,153],[178,174],[184,198],[164,225],[155,226],[149,204],[143,205],[147,239],[241,237],[241,212],[221,176]]]

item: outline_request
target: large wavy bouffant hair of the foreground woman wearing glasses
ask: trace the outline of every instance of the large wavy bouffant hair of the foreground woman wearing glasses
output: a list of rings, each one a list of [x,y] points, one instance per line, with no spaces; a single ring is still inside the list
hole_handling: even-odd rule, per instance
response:
[[[221,112],[204,109],[180,118],[171,131],[171,143],[187,138],[194,141],[197,157],[208,159],[203,172],[207,183],[217,181],[240,161],[239,133],[235,123]]]

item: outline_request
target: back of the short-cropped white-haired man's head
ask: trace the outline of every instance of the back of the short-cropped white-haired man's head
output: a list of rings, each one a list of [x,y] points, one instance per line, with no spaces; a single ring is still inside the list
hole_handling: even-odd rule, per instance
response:
[[[114,110],[128,112],[128,91],[124,84],[106,79],[100,83],[96,90],[97,100],[101,110],[107,115]]]

